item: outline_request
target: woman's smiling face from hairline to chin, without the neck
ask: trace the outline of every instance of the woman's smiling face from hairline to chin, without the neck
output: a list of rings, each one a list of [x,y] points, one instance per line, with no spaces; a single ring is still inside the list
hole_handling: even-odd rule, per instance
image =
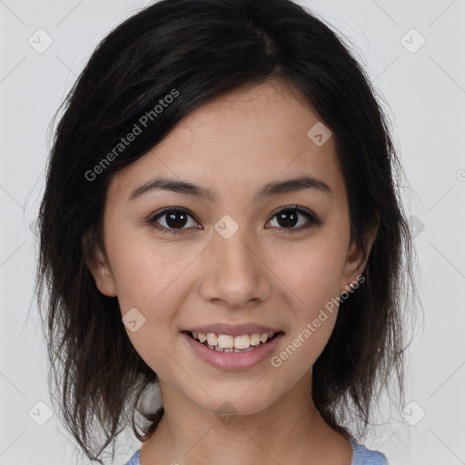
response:
[[[351,243],[335,141],[308,135],[319,121],[283,84],[244,87],[198,108],[114,174],[107,264],[90,267],[99,290],[116,295],[133,321],[125,329],[162,394],[175,390],[207,411],[224,401],[240,413],[262,411],[322,352],[337,316],[328,302],[365,262]],[[285,184],[305,176],[312,183]],[[199,190],[147,188],[161,177]],[[279,334],[252,351],[220,353],[183,332],[217,323]]]

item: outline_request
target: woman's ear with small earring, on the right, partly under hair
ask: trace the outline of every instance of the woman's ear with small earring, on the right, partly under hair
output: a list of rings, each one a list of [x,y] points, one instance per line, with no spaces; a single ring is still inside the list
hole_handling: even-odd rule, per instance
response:
[[[363,256],[361,247],[351,240],[349,251],[347,252],[344,271],[341,278],[341,293],[350,290],[349,284],[355,283],[359,280],[361,273],[365,270],[365,266],[370,256],[371,247],[378,233],[378,226],[380,224],[380,214],[376,213],[370,227],[363,233],[363,242],[365,245],[366,255]]]

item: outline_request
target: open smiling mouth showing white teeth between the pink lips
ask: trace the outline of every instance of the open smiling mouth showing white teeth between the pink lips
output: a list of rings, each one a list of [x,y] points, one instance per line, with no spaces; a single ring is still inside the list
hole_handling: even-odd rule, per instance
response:
[[[182,331],[193,341],[197,341],[211,351],[225,353],[244,353],[255,351],[260,347],[269,344],[271,341],[280,338],[284,332],[254,332],[252,334],[229,335],[216,334],[213,332]]]

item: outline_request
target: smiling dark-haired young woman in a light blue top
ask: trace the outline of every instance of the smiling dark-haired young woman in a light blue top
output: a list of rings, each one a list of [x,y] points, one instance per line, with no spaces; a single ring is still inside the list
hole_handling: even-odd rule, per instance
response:
[[[392,374],[402,389],[396,170],[360,65],[301,6],[163,0],[114,29],[68,96],[39,217],[86,455],[131,416],[131,465],[385,463],[356,433]]]

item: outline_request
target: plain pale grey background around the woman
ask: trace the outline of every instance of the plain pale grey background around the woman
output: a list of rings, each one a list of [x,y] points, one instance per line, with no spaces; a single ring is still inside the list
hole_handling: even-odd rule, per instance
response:
[[[355,47],[389,103],[410,183],[401,196],[415,227],[424,324],[408,351],[405,409],[382,401],[380,426],[366,445],[384,451],[391,465],[465,463],[465,0],[300,3]],[[2,465],[90,463],[49,411],[33,297],[34,224],[55,111],[95,45],[144,5],[0,0]],[[114,463],[124,463],[138,447],[131,434],[123,435]]]

